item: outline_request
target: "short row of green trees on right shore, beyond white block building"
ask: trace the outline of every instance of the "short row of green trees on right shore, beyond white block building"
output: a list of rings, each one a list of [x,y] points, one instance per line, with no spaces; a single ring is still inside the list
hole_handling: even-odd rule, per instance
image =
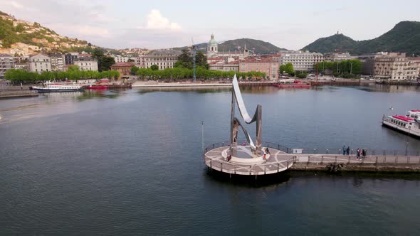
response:
[[[342,60],[342,61],[324,61],[315,64],[315,68],[325,75],[334,75],[342,77],[355,77],[362,72],[362,62],[360,60]]]

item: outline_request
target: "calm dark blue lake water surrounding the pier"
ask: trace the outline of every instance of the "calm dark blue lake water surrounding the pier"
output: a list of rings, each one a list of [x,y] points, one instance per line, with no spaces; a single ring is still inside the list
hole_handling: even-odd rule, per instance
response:
[[[416,87],[260,87],[243,98],[250,113],[263,106],[263,141],[420,149],[381,126],[383,114],[420,109]],[[229,139],[230,100],[229,89],[0,100],[0,235],[420,235],[417,175],[207,173],[201,121],[205,144]]]

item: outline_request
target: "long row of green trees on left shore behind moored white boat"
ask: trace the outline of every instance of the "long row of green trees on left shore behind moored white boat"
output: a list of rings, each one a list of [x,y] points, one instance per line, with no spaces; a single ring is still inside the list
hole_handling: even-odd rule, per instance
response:
[[[44,71],[38,74],[21,69],[10,69],[4,74],[4,78],[10,80],[13,84],[31,84],[48,80],[117,79],[118,77],[120,77],[120,73],[116,70],[106,70],[103,72],[79,70],[77,65],[70,65],[67,71]]]

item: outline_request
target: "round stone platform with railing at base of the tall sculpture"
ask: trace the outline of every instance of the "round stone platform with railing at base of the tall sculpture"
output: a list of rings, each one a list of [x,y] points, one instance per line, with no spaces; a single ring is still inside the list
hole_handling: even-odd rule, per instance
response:
[[[220,146],[204,154],[204,162],[209,168],[236,175],[266,175],[279,173],[293,166],[293,155],[274,148],[268,148],[271,154],[253,158],[249,146],[237,146],[236,156],[227,161],[229,146]],[[265,150],[266,147],[263,147]]]

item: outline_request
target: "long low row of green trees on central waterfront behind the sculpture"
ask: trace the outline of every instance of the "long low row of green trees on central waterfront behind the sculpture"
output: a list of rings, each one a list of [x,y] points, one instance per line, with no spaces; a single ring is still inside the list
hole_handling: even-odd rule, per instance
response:
[[[187,68],[167,68],[164,70],[152,70],[151,68],[134,68],[135,72],[143,80],[183,80],[194,77],[194,71]],[[206,70],[206,68],[196,68],[196,78],[198,80],[204,79],[219,79],[219,78],[233,78],[233,75],[242,79],[264,79],[266,73],[251,71],[241,73],[237,71],[221,71],[221,70]]]

